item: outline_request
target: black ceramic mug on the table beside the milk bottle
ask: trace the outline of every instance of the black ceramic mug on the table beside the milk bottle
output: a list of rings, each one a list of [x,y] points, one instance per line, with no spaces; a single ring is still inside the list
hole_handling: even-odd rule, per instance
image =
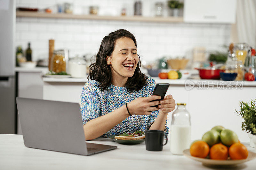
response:
[[[162,151],[163,146],[167,144],[167,136],[163,130],[146,130],[146,150],[148,151]],[[164,143],[164,136],[166,142]]]

